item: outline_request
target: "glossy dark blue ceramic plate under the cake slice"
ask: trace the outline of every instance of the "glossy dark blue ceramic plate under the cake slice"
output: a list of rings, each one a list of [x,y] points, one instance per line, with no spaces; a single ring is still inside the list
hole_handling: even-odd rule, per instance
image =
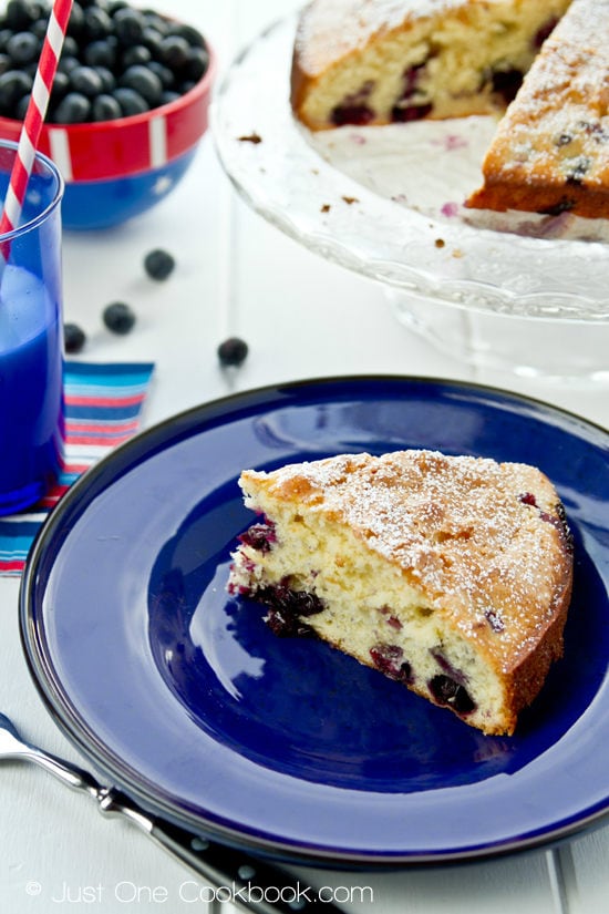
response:
[[[513,738],[484,737],[227,596],[250,523],[237,477],[338,452],[432,448],[539,465],[575,535],[566,656]],[[156,427],[78,482],[21,590],[27,657],[113,782],[197,831],[288,860],[472,859],[608,810],[609,434],[498,390],[413,378],[240,393]]]

